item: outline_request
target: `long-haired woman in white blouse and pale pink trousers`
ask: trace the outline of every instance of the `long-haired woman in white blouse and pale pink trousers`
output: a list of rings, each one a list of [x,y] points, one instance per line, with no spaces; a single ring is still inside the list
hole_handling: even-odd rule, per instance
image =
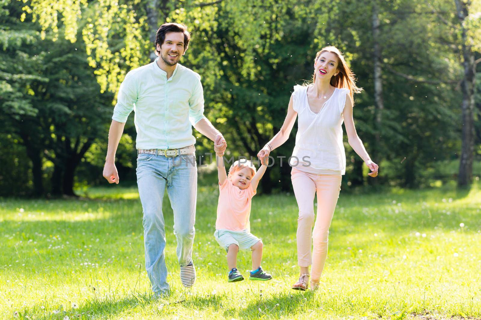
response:
[[[369,176],[378,175],[378,165],[369,158],[354,127],[353,93],[361,90],[355,85],[354,74],[342,53],[336,47],[322,48],[314,59],[312,83],[294,86],[282,128],[259,151],[259,158],[264,160],[272,150],[286,142],[299,115],[290,165],[292,187],[299,206],[297,260],[300,277],[292,289],[307,289],[311,264],[310,288],[314,290],[319,285],[328,251],[329,225],[346,167],[342,144],[343,121],[348,142],[371,170]],[[312,231],[315,193],[317,218]],[[314,243],[312,258],[311,237]]]

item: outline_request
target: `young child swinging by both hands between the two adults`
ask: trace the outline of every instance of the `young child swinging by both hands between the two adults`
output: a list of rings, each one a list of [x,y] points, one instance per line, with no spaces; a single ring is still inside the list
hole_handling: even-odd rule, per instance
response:
[[[239,249],[252,250],[252,271],[249,279],[270,280],[272,276],[261,268],[262,241],[250,232],[249,224],[251,199],[267,166],[262,164],[256,173],[251,161],[241,159],[234,162],[227,176],[222,154],[216,154],[215,159],[220,192],[214,236],[219,245],[227,251],[227,264],[230,270],[228,282],[244,280],[237,270]]]

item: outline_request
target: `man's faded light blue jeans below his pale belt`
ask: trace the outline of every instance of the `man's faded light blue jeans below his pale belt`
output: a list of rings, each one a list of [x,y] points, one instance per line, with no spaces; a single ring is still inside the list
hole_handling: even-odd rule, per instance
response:
[[[165,187],[174,212],[177,258],[181,266],[192,259],[195,205],[197,200],[197,166],[195,154],[165,157],[139,154],[137,185],[143,209],[145,269],[155,294],[169,290],[165,266],[165,223],[162,199]]]

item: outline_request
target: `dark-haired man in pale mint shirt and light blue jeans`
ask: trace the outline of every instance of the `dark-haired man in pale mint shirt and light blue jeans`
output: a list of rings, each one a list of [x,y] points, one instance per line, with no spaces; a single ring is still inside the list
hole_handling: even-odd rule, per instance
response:
[[[135,110],[137,130],[137,184],[143,209],[145,268],[156,295],[168,292],[165,266],[165,224],[162,198],[165,187],[174,212],[174,234],[180,279],[186,287],[195,281],[192,261],[197,166],[192,127],[215,142],[224,153],[227,144],[203,116],[200,76],[180,65],[190,34],[184,24],[163,24],[155,39],[154,62],[127,73],[120,85],[109,131],[103,177],[119,183],[115,151],[127,117]],[[217,152],[216,151],[216,152]]]

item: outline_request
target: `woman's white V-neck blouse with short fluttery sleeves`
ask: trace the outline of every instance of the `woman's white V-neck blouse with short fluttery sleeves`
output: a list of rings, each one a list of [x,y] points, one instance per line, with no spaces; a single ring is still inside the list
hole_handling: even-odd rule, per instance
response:
[[[292,93],[293,107],[299,119],[296,145],[289,164],[301,171],[343,175],[346,154],[342,144],[342,110],[349,89],[335,88],[320,111],[314,113],[307,102],[307,88],[296,85]]]

